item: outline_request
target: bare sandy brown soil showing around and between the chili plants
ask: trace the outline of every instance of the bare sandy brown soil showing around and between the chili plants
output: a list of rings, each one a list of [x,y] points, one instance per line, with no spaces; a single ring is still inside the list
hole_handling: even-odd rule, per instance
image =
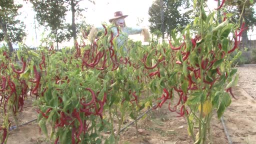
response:
[[[232,143],[256,143],[256,66],[250,64],[238,67],[238,73],[238,84],[232,88],[238,99],[232,98],[232,103],[224,112],[224,124]],[[23,111],[18,114],[19,124],[37,117],[36,107],[32,105],[34,99],[29,99],[25,101]],[[133,124],[121,132],[119,143],[193,143],[187,133],[186,119],[175,117],[176,115],[168,110],[167,104],[150,111],[146,118],[137,122],[137,134]],[[228,143],[224,127],[216,114],[211,121],[211,137],[215,144]],[[11,130],[7,143],[33,144],[50,141],[39,132],[38,124],[31,122]]]

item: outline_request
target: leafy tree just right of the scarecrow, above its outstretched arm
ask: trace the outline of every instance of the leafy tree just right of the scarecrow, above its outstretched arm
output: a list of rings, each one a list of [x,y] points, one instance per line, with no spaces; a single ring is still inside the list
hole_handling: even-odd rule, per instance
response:
[[[169,36],[177,25],[184,27],[189,23],[189,19],[187,13],[181,11],[188,8],[188,4],[189,0],[155,0],[148,9],[150,31],[164,38],[165,34]]]

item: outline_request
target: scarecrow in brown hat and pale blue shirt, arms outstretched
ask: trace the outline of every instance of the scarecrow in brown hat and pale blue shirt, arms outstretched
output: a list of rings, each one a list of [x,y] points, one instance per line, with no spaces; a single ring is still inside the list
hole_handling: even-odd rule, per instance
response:
[[[123,48],[125,50],[125,44],[127,43],[128,40],[128,35],[130,34],[139,34],[141,33],[141,35],[144,36],[144,41],[149,41],[149,32],[146,28],[140,28],[140,27],[127,27],[125,24],[125,20],[124,18],[127,17],[128,15],[123,15],[122,11],[116,11],[114,12],[114,17],[112,17],[111,19],[109,19],[109,22],[112,25],[115,25],[114,27],[111,28],[113,35],[117,35],[117,28],[118,26],[120,27],[120,31],[119,31],[119,36],[116,38],[116,42],[117,42],[117,47],[120,48],[121,46],[124,46]],[[93,27],[90,30],[90,33],[88,35],[89,40],[90,41],[94,41],[96,35],[97,35],[97,31],[103,29],[103,27]]]

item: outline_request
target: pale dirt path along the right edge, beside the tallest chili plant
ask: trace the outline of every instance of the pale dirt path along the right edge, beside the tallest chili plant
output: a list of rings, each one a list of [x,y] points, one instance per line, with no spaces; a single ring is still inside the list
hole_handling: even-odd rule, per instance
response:
[[[239,67],[238,72],[233,93],[239,99],[232,99],[223,117],[232,143],[256,143],[256,66]]]

